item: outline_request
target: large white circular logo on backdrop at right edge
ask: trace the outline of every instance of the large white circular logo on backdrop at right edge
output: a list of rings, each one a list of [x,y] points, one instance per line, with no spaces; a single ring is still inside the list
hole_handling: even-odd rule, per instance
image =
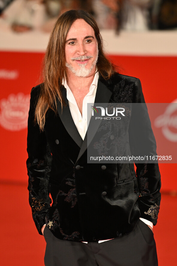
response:
[[[177,99],[170,103],[164,114],[158,116],[155,119],[155,126],[157,128],[162,128],[162,133],[167,140],[172,142],[177,142],[177,132],[173,132],[170,130],[174,128],[177,130],[177,114],[174,114],[177,111]]]

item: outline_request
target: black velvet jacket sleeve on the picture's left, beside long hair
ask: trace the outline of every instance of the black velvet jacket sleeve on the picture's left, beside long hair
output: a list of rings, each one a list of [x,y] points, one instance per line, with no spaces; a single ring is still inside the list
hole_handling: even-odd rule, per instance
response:
[[[28,116],[27,136],[27,170],[29,204],[32,216],[39,234],[45,224],[45,216],[49,211],[49,176],[51,171],[52,155],[46,140],[45,131],[40,131],[39,125],[34,123],[36,100],[40,85],[31,90],[30,109]]]

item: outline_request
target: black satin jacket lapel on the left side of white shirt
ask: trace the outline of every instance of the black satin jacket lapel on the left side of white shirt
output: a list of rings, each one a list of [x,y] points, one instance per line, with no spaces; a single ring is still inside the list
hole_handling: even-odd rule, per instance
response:
[[[75,123],[72,119],[72,115],[69,109],[69,103],[66,97],[66,89],[63,86],[62,88],[62,95],[63,95],[63,99],[66,103],[66,106],[63,106],[63,110],[61,108],[61,103],[59,102],[59,100],[57,100],[57,111],[58,114],[60,116],[60,119],[64,125],[64,127],[66,128],[68,134],[71,136],[71,138],[75,141],[75,143],[81,148],[83,140],[81,138],[81,135],[79,134]]]

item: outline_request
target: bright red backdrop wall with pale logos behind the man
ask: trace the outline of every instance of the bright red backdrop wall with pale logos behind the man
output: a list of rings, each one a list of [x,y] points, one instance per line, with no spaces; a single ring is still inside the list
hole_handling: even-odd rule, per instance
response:
[[[1,180],[27,182],[28,95],[40,83],[43,53],[0,52]],[[146,102],[177,99],[177,57],[110,55],[119,72],[141,80]],[[20,93],[20,94],[19,94]],[[163,145],[168,146],[167,140]],[[177,142],[174,143],[177,145]],[[176,164],[160,164],[162,190],[177,190]],[[170,180],[170,181],[169,181]]]

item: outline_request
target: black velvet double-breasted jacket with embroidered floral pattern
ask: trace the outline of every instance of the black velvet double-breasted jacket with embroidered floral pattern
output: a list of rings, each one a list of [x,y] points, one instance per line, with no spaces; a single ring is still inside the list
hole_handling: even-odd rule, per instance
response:
[[[95,241],[130,233],[139,217],[155,225],[161,198],[158,164],[138,163],[136,173],[131,163],[87,164],[87,134],[83,141],[68,103],[63,112],[59,102],[57,114],[48,110],[44,131],[34,125],[39,92],[40,85],[31,91],[27,138],[29,202],[39,233],[46,223],[59,239]],[[99,78],[95,102],[144,102],[140,80],[121,74]],[[143,121],[142,131],[134,125],[134,145],[146,141],[155,149],[153,133],[145,134]]]

